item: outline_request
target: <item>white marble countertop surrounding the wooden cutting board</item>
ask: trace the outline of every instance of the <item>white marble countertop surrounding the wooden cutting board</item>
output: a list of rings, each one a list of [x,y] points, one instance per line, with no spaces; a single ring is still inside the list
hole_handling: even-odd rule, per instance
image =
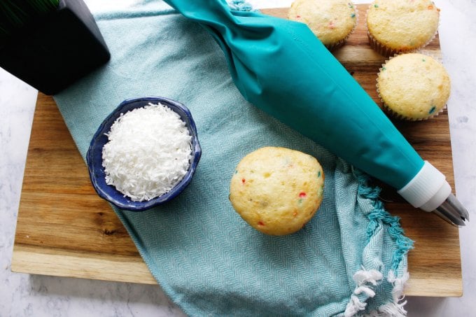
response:
[[[86,2],[96,11],[134,1]],[[292,1],[249,2],[255,7],[278,7]],[[475,316],[476,1],[435,2],[441,8],[443,62],[452,83],[448,111],[456,192],[470,211],[472,222],[460,229],[463,297],[407,297],[405,308],[408,316]],[[183,316],[159,286],[10,272],[36,94],[36,90],[0,69],[0,316]]]

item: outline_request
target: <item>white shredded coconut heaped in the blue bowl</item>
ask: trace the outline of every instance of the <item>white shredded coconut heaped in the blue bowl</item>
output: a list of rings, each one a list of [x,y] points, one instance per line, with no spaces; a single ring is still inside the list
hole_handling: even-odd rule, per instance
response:
[[[162,104],[121,113],[106,136],[106,183],[134,202],[169,192],[190,167],[192,136],[180,116]]]

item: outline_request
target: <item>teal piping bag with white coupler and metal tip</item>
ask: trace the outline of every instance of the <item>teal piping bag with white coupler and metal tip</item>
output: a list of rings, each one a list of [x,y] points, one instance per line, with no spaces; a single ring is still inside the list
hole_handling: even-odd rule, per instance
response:
[[[445,176],[414,148],[302,23],[230,10],[225,0],[165,0],[214,36],[239,91],[263,111],[391,185],[412,206],[465,225]]]

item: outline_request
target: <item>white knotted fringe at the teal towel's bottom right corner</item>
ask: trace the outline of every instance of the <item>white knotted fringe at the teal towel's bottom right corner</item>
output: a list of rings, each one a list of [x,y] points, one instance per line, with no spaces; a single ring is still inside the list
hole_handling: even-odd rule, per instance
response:
[[[400,278],[395,276],[395,272],[393,270],[388,271],[387,281],[392,283],[393,290],[392,290],[392,297],[393,301],[388,302],[387,304],[382,305],[379,307],[377,311],[370,311],[369,313],[365,314],[366,317],[405,317],[407,316],[407,311],[405,311],[404,307],[407,304],[407,301],[404,301],[404,290],[405,285],[408,281],[409,274],[405,270]],[[353,291],[351,295],[351,300],[346,306],[346,310],[344,311],[345,317],[356,316],[359,311],[363,311],[367,306],[367,303],[360,302],[356,295],[360,293],[365,293],[368,297],[374,297],[375,291],[370,288],[370,286],[376,286],[377,281],[383,279],[383,275],[381,272],[371,269],[370,271],[360,270],[353,274],[353,281],[356,282],[357,286],[356,289]]]

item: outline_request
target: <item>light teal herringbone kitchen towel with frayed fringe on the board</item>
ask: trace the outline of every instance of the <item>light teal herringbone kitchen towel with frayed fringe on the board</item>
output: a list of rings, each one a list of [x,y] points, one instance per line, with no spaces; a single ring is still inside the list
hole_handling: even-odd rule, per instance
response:
[[[175,99],[197,124],[203,152],[188,188],[142,213],[114,209],[155,279],[186,314],[405,316],[401,297],[412,241],[365,174],[248,104],[213,38],[162,1],[95,17],[111,61],[55,95],[80,154],[85,157],[97,127],[124,99]],[[321,208],[295,234],[253,230],[228,200],[239,160],[262,146],[300,150],[323,166]]]

